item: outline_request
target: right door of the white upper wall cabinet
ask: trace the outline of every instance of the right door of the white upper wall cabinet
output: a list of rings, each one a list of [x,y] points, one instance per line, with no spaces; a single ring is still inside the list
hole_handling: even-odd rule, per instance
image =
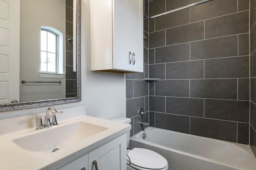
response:
[[[127,53],[132,71],[143,72],[143,0],[127,0]]]

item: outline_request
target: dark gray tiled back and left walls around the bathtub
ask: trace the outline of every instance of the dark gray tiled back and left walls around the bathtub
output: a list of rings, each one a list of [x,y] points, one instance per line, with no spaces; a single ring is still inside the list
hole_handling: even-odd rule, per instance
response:
[[[198,0],[144,2],[153,16]],[[214,0],[147,22],[146,72],[126,74],[131,135],[143,106],[153,127],[248,144],[249,0]],[[147,76],[160,80],[142,82]]]

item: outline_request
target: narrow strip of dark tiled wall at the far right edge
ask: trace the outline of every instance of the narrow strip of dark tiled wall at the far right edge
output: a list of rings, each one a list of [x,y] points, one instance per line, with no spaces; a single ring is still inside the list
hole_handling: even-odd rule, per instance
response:
[[[256,0],[250,0],[250,147],[256,156]]]

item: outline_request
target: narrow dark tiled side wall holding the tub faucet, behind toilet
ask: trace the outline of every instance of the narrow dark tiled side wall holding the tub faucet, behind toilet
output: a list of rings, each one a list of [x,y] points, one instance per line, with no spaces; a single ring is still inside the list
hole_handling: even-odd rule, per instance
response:
[[[148,18],[148,0],[144,0],[144,18]],[[148,21],[144,21],[144,35],[148,37]],[[144,78],[148,78],[148,39],[144,41],[144,72],[126,74],[126,117],[131,118],[130,136],[142,130],[140,121],[149,122],[148,81]],[[146,112],[143,119],[138,116],[140,107]]]

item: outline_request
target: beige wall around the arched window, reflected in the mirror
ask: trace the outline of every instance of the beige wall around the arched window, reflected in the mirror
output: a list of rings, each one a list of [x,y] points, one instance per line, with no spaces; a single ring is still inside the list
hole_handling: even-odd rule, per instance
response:
[[[41,78],[39,76],[41,26],[53,27],[65,37],[65,2],[65,0],[20,1],[20,80],[62,82],[61,84],[20,83],[20,102],[65,98],[65,78]],[[64,38],[63,47],[65,46]],[[65,61],[65,48],[63,54]]]

